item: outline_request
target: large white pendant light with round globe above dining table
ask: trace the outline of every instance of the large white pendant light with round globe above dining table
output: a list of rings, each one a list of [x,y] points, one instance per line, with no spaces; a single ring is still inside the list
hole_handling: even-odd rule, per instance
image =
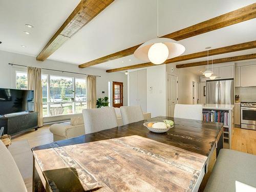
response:
[[[178,41],[170,38],[159,38],[159,0],[157,0],[157,38],[144,42],[134,52],[134,56],[144,61],[151,61],[156,65],[162,64],[170,58],[177,57],[184,53],[185,47]]]

